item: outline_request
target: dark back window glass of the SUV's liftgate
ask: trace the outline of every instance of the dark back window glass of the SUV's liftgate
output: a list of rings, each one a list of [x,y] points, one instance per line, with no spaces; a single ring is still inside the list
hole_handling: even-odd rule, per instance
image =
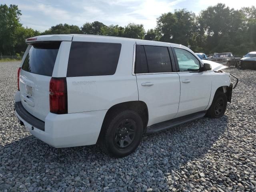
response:
[[[60,43],[40,42],[32,44],[22,64],[22,70],[39,75],[52,76]]]

